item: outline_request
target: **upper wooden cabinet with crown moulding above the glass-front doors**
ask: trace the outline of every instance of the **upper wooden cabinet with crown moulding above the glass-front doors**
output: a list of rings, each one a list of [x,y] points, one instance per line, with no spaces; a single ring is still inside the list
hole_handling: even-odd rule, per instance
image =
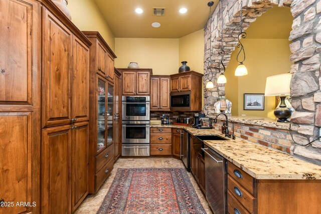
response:
[[[90,60],[92,65],[90,70],[97,72],[106,80],[114,83],[114,59],[117,58],[99,32],[96,31],[83,31],[86,37],[92,43],[90,51],[92,52]]]

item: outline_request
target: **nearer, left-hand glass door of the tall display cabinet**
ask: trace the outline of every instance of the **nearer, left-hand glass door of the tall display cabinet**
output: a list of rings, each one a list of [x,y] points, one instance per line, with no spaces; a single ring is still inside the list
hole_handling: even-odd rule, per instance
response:
[[[106,148],[106,80],[97,75],[97,153]]]

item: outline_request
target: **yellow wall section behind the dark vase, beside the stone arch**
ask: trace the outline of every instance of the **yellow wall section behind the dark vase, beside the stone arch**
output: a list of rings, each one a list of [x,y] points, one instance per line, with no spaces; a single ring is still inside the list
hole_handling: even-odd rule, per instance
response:
[[[204,29],[179,39],[179,67],[187,61],[191,70],[204,74]]]

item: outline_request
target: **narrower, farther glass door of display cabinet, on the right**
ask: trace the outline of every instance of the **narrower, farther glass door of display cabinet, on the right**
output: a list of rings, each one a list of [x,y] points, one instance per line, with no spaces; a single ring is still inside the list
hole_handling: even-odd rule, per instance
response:
[[[108,85],[107,94],[107,146],[113,143],[114,86]]]

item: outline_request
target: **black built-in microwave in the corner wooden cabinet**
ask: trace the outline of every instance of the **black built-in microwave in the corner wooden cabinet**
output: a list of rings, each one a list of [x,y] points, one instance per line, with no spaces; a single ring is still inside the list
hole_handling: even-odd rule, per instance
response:
[[[191,110],[191,91],[171,93],[171,110]]]

